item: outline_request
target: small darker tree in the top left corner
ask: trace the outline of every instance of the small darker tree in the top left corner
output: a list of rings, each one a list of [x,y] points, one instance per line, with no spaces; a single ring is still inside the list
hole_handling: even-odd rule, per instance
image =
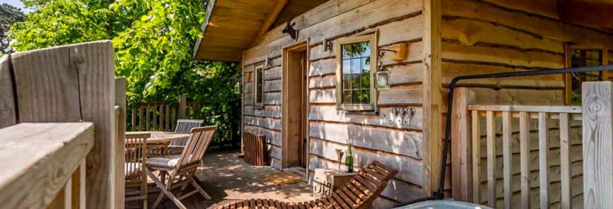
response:
[[[24,21],[25,17],[26,15],[20,8],[10,6],[8,3],[0,4],[0,55],[13,52],[13,49],[8,47],[10,42],[6,32],[11,24]]]

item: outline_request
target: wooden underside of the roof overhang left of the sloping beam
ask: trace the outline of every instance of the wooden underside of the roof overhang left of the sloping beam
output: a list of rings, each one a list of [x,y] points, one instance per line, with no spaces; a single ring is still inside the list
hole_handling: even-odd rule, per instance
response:
[[[328,0],[208,0],[194,58],[241,61],[242,52],[274,27]]]

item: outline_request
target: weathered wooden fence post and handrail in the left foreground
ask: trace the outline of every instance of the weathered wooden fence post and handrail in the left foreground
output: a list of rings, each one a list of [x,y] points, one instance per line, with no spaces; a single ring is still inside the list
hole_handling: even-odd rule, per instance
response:
[[[1,208],[123,202],[113,195],[123,189],[115,186],[123,165],[114,154],[114,84],[109,40],[0,59]]]

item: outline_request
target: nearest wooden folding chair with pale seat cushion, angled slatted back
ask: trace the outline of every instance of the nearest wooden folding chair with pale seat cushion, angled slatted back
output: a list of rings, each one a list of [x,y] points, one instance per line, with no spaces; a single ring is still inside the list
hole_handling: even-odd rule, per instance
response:
[[[182,199],[200,193],[205,199],[210,199],[210,196],[204,192],[204,189],[198,185],[194,178],[196,169],[200,165],[200,160],[204,156],[208,145],[212,141],[212,137],[217,130],[217,126],[194,127],[191,131],[191,136],[187,140],[187,145],[183,149],[181,155],[165,155],[160,157],[150,157],[147,162],[147,174],[153,179],[155,185],[162,192],[157,196],[153,203],[153,208],[156,208],[165,196],[168,196],[178,208],[185,208]],[[155,176],[153,171],[160,171],[159,176]],[[166,178],[168,176],[168,178]],[[191,192],[183,194],[183,190],[187,185],[191,184],[195,189]],[[180,189],[181,196],[176,196],[173,190]]]

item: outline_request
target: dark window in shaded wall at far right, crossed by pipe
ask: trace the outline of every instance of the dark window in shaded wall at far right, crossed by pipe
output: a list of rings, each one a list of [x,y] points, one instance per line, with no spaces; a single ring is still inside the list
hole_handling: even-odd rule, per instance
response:
[[[572,68],[582,68],[603,65],[603,50],[600,49],[570,49],[568,52]],[[570,104],[581,104],[581,84],[583,82],[598,82],[603,80],[603,72],[574,72],[569,75]]]

